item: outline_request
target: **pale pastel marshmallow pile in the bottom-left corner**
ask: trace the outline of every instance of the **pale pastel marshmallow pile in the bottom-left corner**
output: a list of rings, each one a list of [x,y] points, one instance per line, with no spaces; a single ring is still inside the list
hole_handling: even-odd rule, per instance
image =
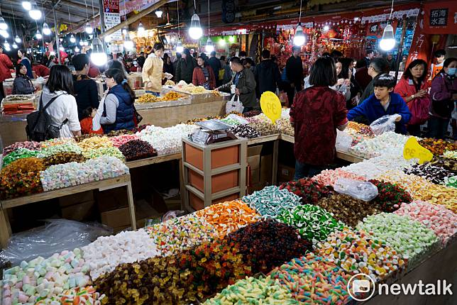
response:
[[[39,301],[40,304],[50,304],[48,299],[67,289],[86,287],[90,282],[88,270],[78,248],[55,253],[47,259],[37,257],[30,262],[23,261],[21,265],[4,271],[3,304],[35,304]]]

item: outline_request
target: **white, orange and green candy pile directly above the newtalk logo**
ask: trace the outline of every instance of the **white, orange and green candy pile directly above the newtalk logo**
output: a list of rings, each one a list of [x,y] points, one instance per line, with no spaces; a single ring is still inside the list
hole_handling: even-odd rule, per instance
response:
[[[391,272],[402,270],[407,262],[400,253],[371,233],[346,228],[331,233],[325,241],[318,243],[315,253],[334,262],[349,275],[362,272],[375,282],[385,279]]]

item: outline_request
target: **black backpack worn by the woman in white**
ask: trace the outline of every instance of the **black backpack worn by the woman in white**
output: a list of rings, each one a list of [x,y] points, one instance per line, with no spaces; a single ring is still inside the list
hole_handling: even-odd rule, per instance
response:
[[[38,110],[33,111],[27,116],[26,133],[28,140],[41,142],[60,137],[60,129],[67,123],[68,119],[65,118],[65,121],[63,121],[60,126],[53,126],[52,117],[46,112],[46,109],[61,95],[62,94],[53,97],[44,107],[43,94],[40,96],[40,106]]]

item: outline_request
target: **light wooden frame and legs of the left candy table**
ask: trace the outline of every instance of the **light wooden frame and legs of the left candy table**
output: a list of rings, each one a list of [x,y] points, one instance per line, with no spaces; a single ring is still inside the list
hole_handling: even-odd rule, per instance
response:
[[[2,248],[6,248],[8,240],[11,236],[11,226],[9,224],[7,209],[11,209],[15,206],[24,206],[26,204],[32,204],[33,202],[59,198],[71,194],[78,194],[86,191],[92,191],[98,189],[104,191],[106,189],[114,189],[116,187],[126,187],[128,196],[128,209],[130,212],[131,226],[133,230],[136,230],[136,218],[135,218],[135,206],[133,205],[133,193],[132,185],[130,181],[130,174],[124,174],[121,177],[104,179],[97,182],[91,182],[86,184],[80,184],[75,187],[66,187],[65,189],[55,189],[49,192],[43,192],[39,194],[33,194],[30,196],[22,196],[19,198],[9,199],[0,201],[0,245]]]

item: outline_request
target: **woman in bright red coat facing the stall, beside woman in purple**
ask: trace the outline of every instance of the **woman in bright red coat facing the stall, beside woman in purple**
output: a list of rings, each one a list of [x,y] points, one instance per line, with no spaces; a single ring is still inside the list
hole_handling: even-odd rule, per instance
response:
[[[430,96],[426,82],[426,62],[424,60],[413,60],[403,73],[402,79],[395,86],[395,93],[400,94],[412,117],[407,125],[410,135],[420,136],[421,125],[429,118]]]

